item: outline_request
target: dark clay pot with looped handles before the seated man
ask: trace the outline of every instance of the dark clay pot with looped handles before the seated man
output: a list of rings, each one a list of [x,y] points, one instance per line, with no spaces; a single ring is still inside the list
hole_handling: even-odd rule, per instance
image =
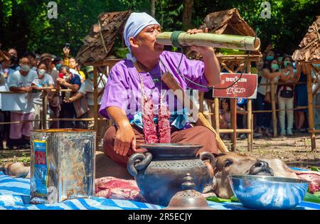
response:
[[[127,163],[139,189],[149,203],[168,206],[170,199],[181,191],[183,177],[189,173],[194,189],[202,192],[213,181],[213,154],[203,152],[199,158],[199,144],[144,144],[148,152],[133,154]]]

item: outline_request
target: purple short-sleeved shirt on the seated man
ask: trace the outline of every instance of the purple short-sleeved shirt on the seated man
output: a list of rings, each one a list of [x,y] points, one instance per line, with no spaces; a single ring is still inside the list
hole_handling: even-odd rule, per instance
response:
[[[151,96],[155,110],[158,108],[161,92],[161,85],[157,80],[161,80],[160,75],[165,73],[167,69],[183,90],[186,90],[187,88],[201,91],[208,90],[206,87],[200,87],[193,84],[178,74],[176,68],[178,68],[178,64],[181,60],[181,53],[164,51],[160,55],[160,60],[164,64],[160,62],[149,73],[140,73],[143,78],[144,92],[149,97]],[[181,74],[189,80],[207,86],[208,82],[204,75],[204,64],[201,60],[189,60],[183,55],[179,70],[181,71]],[[164,82],[162,82],[162,90],[169,90]],[[167,105],[169,100],[168,95],[169,93],[166,95],[165,102]],[[107,107],[120,107],[126,112],[128,119],[132,119],[134,114],[141,112],[141,96],[142,88],[137,69],[134,67],[131,60],[121,60],[110,70],[99,112],[102,117],[110,119],[107,114]],[[169,105],[172,104],[169,103]],[[177,102],[174,103],[174,109],[169,107],[169,110],[172,112],[172,110],[176,109],[176,106]]]

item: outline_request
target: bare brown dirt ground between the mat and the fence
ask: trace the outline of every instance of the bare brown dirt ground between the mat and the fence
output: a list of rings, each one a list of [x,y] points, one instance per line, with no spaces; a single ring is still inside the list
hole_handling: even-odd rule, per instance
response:
[[[224,140],[230,149],[230,140]],[[250,154],[259,158],[282,159],[289,166],[309,168],[320,167],[320,136],[316,137],[316,150],[311,151],[309,134],[295,134],[293,137],[268,137],[253,139],[252,152],[247,151],[247,139],[237,141],[237,151],[241,154]],[[101,151],[102,145],[98,146]],[[30,150],[0,150],[0,164],[6,161],[21,161],[30,165]]]

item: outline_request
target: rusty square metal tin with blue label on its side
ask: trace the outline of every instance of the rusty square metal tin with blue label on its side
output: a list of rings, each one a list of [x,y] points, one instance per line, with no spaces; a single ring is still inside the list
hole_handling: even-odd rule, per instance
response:
[[[95,139],[86,129],[32,131],[30,203],[94,196]]]

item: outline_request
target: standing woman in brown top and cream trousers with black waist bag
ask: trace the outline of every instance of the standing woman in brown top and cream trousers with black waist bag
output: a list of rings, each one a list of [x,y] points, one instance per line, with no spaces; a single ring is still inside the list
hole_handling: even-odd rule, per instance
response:
[[[288,84],[278,85],[277,97],[279,105],[279,123],[280,123],[280,134],[282,136],[292,135],[293,127],[293,105],[294,105],[294,70],[292,67],[291,58],[284,58],[281,68],[287,70],[284,74],[280,75],[280,82]],[[287,132],[285,127],[285,114],[287,112]]]

